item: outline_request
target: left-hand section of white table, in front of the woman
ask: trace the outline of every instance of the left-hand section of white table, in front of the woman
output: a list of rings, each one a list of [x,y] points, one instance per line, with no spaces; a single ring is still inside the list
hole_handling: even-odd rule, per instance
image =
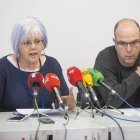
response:
[[[80,117],[75,119],[75,112],[69,112],[69,123],[67,128],[67,140],[108,140],[108,128],[93,121]],[[22,122],[8,122],[12,112],[0,113],[0,139],[1,140],[32,140],[38,126],[37,117],[29,117]],[[40,124],[39,140],[48,140],[53,136],[53,140],[64,140],[66,120],[63,115],[54,115],[52,118],[55,124]]]

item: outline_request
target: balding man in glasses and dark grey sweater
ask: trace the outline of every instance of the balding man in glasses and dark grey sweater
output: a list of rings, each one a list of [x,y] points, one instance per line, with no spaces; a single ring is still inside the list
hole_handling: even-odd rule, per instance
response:
[[[114,46],[99,52],[94,68],[104,75],[104,82],[134,107],[140,107],[140,26],[133,19],[121,19],[114,27]],[[98,88],[105,102],[109,92]],[[128,105],[111,95],[110,105]]]

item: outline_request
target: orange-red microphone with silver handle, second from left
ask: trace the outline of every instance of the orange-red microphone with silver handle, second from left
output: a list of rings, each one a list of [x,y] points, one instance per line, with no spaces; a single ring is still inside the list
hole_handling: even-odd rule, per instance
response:
[[[59,105],[64,109],[63,101],[60,97],[60,80],[57,75],[54,73],[48,73],[46,74],[44,78],[44,84],[45,87],[50,91],[50,92],[55,92],[56,98],[59,102]]]

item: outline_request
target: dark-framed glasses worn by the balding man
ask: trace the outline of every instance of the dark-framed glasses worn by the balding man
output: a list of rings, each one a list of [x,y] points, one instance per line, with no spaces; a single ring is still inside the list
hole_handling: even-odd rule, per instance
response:
[[[129,44],[131,47],[134,48],[134,47],[140,46],[140,40],[134,40],[132,42],[116,41],[116,44],[123,48],[127,48],[128,44]]]

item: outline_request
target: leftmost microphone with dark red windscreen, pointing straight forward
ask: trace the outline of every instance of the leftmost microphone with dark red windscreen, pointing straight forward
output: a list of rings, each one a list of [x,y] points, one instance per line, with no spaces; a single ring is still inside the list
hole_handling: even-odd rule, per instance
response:
[[[37,96],[39,90],[44,87],[44,78],[40,72],[32,73],[28,76],[28,86],[32,89],[33,95]]]

